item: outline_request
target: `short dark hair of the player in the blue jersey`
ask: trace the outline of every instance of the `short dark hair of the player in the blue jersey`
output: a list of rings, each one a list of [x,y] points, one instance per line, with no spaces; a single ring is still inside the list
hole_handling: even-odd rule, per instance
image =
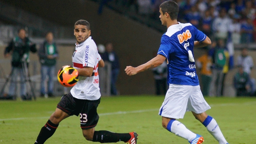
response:
[[[178,18],[179,6],[176,2],[172,0],[168,0],[166,2],[163,2],[159,8],[161,8],[163,14],[167,12],[170,15],[170,18],[172,20],[175,20]]]

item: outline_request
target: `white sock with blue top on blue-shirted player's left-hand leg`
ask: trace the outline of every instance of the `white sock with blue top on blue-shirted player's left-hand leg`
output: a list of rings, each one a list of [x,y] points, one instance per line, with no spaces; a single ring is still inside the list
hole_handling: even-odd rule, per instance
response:
[[[191,132],[189,129],[185,127],[184,124],[182,124],[179,121],[171,120],[168,123],[167,130],[174,133],[175,135],[179,137],[183,137],[184,139],[187,139],[188,141],[191,141],[195,139],[196,134]]]

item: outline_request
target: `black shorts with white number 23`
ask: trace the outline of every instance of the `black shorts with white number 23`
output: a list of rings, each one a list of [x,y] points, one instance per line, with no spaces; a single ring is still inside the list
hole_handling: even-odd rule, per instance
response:
[[[80,116],[81,129],[87,130],[94,128],[99,121],[99,115],[97,113],[97,107],[99,104],[100,99],[81,100],[74,98],[71,93],[67,93],[61,98],[57,108],[61,109],[70,116]]]

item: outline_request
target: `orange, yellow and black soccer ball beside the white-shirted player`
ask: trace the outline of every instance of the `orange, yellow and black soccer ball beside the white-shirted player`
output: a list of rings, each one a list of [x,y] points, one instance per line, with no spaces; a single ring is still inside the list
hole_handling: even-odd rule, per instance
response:
[[[74,67],[65,65],[58,72],[58,81],[65,87],[71,87],[77,84],[78,71]]]

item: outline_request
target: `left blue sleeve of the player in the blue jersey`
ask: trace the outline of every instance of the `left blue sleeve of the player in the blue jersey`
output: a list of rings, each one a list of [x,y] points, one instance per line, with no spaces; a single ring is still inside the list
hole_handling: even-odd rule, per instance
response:
[[[157,54],[161,54],[161,55],[165,56],[165,58],[168,59],[168,55],[169,55],[170,51],[171,51],[170,37],[168,37],[167,35],[163,35],[161,38],[161,44],[160,44]]]

